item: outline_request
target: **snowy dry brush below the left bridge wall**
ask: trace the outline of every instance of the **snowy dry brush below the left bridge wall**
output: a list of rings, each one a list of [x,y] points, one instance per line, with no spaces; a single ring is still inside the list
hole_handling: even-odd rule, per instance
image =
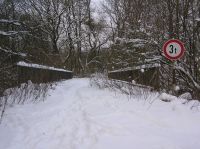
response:
[[[6,106],[14,104],[36,103],[44,101],[48,91],[54,89],[55,84],[33,84],[31,81],[21,84],[20,87],[7,89],[0,97],[0,122]]]

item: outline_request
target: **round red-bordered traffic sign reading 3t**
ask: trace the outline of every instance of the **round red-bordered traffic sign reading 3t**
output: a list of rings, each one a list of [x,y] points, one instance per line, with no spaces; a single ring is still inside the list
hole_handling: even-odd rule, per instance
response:
[[[168,40],[163,46],[163,53],[165,57],[169,60],[180,59],[185,52],[184,44],[177,39]]]

